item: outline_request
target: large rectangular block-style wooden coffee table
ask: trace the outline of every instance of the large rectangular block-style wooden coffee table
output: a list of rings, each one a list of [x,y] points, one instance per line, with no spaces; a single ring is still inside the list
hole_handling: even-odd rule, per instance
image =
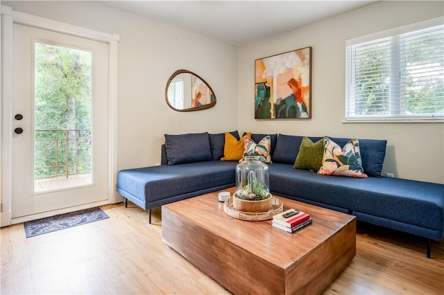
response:
[[[162,240],[234,294],[318,294],[355,257],[355,216],[278,197],[313,219],[287,233],[226,215],[218,193],[162,206]]]

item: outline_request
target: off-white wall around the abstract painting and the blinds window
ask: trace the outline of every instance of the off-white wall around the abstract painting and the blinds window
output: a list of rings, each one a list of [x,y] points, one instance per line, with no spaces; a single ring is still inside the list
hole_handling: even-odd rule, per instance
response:
[[[239,130],[386,139],[383,172],[444,183],[443,123],[342,123],[345,40],[442,16],[442,1],[380,1],[239,48]],[[312,118],[255,120],[255,60],[311,46]]]

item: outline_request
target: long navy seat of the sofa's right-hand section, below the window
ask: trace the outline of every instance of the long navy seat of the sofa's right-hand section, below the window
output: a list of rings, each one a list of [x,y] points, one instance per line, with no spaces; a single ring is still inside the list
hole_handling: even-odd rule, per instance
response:
[[[444,186],[389,177],[325,177],[281,163],[268,166],[274,195],[361,212],[443,232]],[[441,240],[440,237],[437,240]]]

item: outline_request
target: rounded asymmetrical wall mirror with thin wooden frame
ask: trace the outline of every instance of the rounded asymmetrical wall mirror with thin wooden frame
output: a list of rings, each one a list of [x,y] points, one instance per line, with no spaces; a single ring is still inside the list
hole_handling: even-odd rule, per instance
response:
[[[210,85],[187,70],[178,70],[171,75],[165,97],[169,107],[176,111],[198,111],[216,105],[216,96]]]

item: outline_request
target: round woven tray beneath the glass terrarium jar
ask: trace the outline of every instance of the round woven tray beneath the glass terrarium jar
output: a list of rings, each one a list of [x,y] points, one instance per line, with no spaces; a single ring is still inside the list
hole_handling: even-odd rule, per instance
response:
[[[282,204],[280,199],[277,199],[275,197],[271,198],[272,198],[271,208],[267,212],[254,213],[254,212],[244,212],[244,211],[234,210],[232,197],[226,199],[225,202],[223,203],[223,211],[227,215],[237,218],[238,220],[248,220],[248,221],[271,220],[273,218],[273,215],[281,213],[284,208],[284,204]]]

